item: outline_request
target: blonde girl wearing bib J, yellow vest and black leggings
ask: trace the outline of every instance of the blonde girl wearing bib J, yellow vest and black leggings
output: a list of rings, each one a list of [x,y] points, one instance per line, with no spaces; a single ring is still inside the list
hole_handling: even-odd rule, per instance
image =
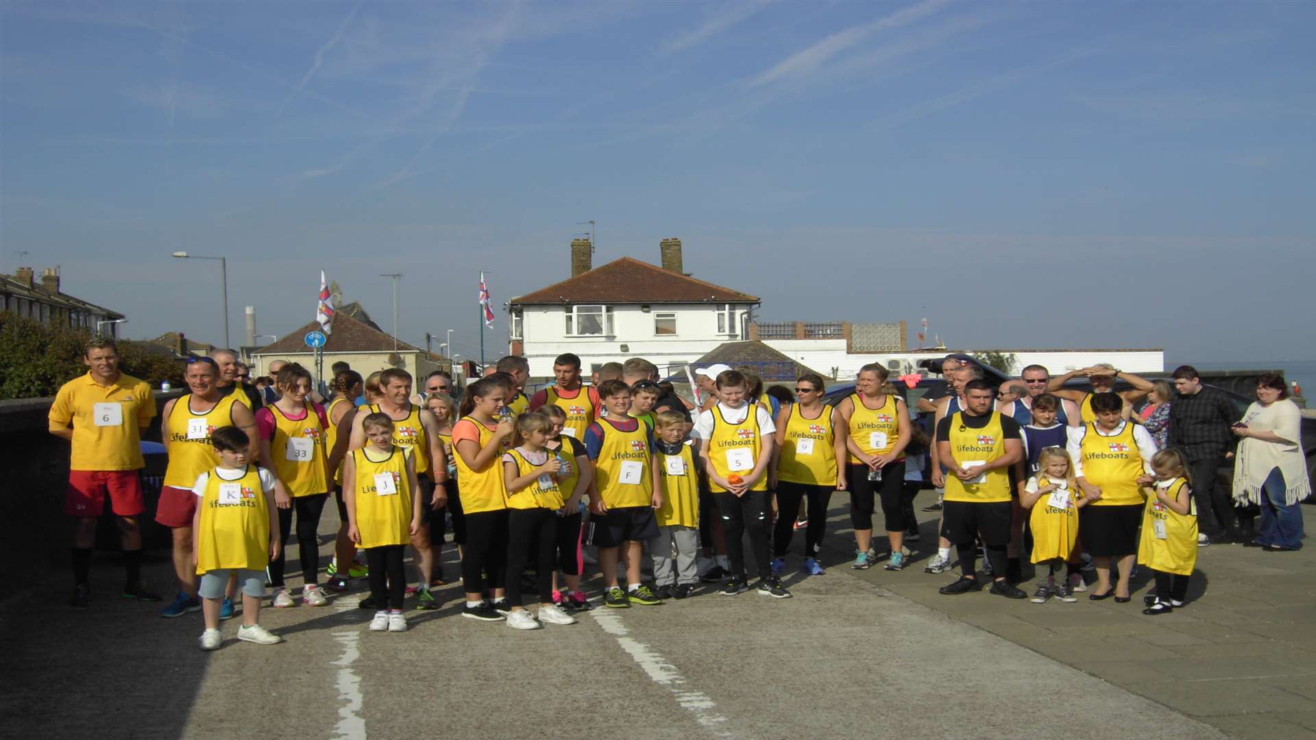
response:
[[[361,428],[368,442],[342,461],[347,537],[366,550],[370,598],[378,610],[370,629],[405,632],[407,566],[403,560],[412,535],[420,531],[424,512],[416,458],[393,445],[393,420],[387,413],[370,413],[362,419]]]

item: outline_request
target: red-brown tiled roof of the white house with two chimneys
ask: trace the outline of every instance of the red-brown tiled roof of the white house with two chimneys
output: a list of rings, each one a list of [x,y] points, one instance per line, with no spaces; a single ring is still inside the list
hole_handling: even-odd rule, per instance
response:
[[[583,275],[513,298],[509,303],[521,305],[545,303],[758,303],[758,296],[622,257]]]

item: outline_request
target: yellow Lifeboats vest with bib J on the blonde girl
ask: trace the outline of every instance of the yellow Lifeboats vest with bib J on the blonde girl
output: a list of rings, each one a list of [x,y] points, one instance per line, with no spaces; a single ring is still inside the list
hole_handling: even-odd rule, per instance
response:
[[[357,469],[357,531],[363,549],[411,542],[415,503],[407,479],[411,454],[396,445],[383,460],[372,460],[366,448],[351,450],[351,463]]]

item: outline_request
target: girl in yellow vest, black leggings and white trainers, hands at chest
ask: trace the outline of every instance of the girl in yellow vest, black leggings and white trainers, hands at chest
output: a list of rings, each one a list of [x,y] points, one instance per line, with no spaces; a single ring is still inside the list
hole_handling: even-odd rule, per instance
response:
[[[553,603],[553,570],[557,565],[558,521],[566,496],[558,485],[563,460],[544,445],[553,421],[544,413],[516,417],[516,438],[503,454],[503,481],[507,486],[507,625],[540,629],[544,621],[575,624],[575,618]],[[533,557],[534,581],[540,591],[538,619],[521,606],[521,575]]]

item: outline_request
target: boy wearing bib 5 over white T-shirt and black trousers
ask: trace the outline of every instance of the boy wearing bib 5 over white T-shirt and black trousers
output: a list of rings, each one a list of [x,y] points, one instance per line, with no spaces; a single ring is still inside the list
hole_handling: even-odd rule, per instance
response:
[[[708,471],[708,487],[722,516],[726,554],[732,578],[722,595],[749,590],[745,571],[745,545],[741,535],[749,529],[758,568],[758,593],[788,599],[791,593],[772,575],[769,557],[767,465],[772,458],[776,425],[767,408],[750,403],[749,383],[737,370],[717,375],[717,404],[699,415],[694,437],[699,440],[699,460]]]

